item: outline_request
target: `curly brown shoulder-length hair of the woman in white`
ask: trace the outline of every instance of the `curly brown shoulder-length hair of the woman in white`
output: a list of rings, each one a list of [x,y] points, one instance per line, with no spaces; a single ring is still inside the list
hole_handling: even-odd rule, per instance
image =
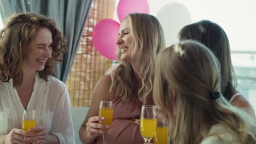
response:
[[[26,46],[30,44],[38,27],[49,28],[53,35],[53,53],[39,76],[48,81],[53,75],[54,66],[62,61],[62,52],[67,51],[67,40],[53,19],[34,13],[13,14],[8,18],[5,27],[0,31],[0,80],[9,82],[13,79],[13,87],[20,86],[23,81],[22,66],[26,58]]]

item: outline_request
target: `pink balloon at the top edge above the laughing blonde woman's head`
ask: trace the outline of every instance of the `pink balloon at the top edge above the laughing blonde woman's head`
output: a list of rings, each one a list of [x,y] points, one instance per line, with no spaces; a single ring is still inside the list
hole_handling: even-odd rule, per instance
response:
[[[123,21],[125,16],[130,13],[147,13],[149,6],[147,0],[120,0],[117,7],[118,19]]]

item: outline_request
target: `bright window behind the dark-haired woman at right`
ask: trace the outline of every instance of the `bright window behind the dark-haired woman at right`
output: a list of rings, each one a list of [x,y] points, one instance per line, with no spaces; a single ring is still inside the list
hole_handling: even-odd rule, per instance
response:
[[[189,11],[191,22],[204,19],[211,20],[218,23],[228,34],[232,64],[237,76],[237,89],[247,95],[254,111],[256,111],[256,1],[178,0],[173,2],[148,0],[150,14],[158,17],[159,10],[170,3],[184,5]],[[175,15],[178,14],[175,13]],[[167,13],[165,19],[170,20],[170,22],[177,21],[182,19],[180,15],[178,15],[179,17],[171,17],[171,13]],[[170,25],[170,27],[172,26],[175,25]],[[180,28],[177,28],[177,31],[174,31],[176,33],[172,34],[176,36],[179,30]]]

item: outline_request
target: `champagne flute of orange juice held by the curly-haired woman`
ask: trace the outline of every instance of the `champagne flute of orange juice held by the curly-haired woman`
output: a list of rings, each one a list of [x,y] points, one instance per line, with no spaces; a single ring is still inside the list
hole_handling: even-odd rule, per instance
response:
[[[25,110],[22,117],[22,130],[28,131],[28,129],[34,128],[35,126],[35,112],[33,110]]]

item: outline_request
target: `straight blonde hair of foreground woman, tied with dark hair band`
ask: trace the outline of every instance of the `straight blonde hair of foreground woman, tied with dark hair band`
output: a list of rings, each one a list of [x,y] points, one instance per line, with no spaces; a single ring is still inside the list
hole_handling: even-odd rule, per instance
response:
[[[211,92],[220,92],[220,79],[218,59],[196,41],[182,41],[159,53],[153,98],[160,115],[174,127],[169,128],[174,143],[200,143],[204,138],[200,134],[217,123],[234,131],[241,143],[256,142],[253,118],[230,105],[221,93],[220,98],[210,99]]]

